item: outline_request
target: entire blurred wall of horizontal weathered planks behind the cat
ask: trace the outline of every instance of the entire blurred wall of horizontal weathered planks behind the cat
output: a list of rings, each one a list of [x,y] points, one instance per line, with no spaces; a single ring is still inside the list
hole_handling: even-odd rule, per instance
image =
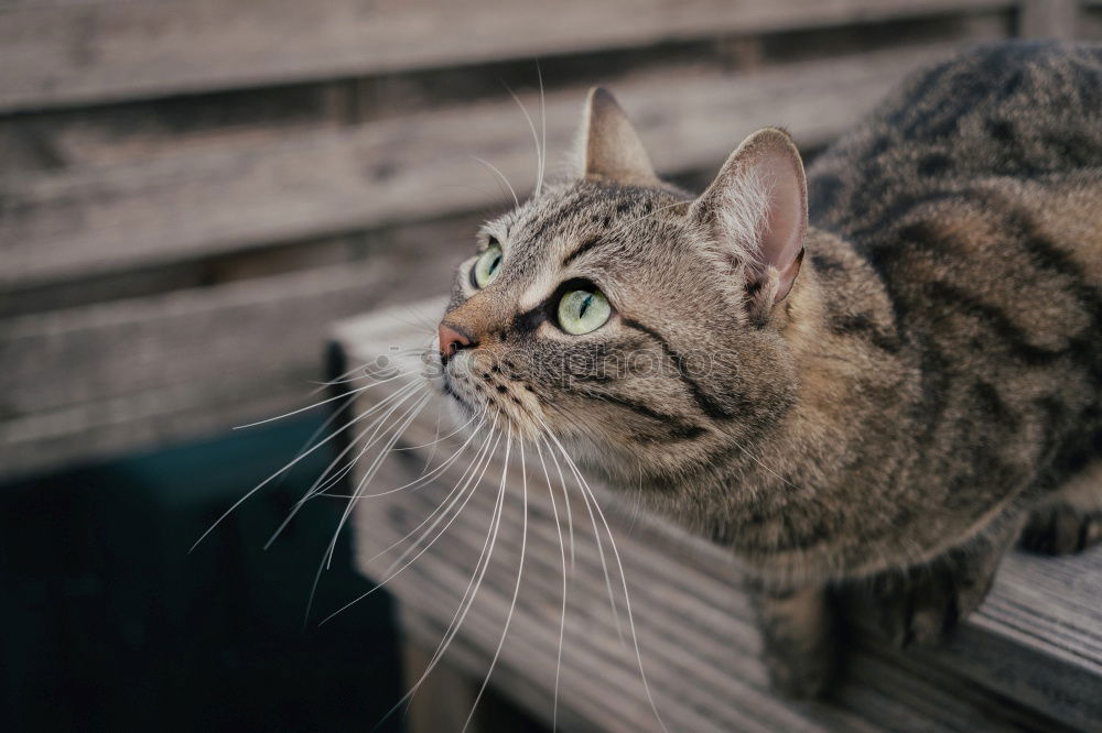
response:
[[[1102,39],[1089,0],[7,0],[0,473],[309,400],[326,324],[444,291],[611,86],[661,172],[744,134],[809,153],[977,41]],[[411,316],[412,318],[413,316]]]

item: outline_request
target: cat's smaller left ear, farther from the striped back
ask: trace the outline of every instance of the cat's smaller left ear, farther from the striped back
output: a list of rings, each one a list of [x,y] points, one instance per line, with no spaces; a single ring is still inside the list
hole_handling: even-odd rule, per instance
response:
[[[590,89],[577,147],[580,178],[641,186],[660,183],[642,141],[606,89]]]

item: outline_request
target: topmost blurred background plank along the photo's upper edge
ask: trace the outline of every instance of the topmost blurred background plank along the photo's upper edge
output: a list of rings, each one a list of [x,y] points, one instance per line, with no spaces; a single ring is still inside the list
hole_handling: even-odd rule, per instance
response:
[[[1007,0],[154,0],[0,8],[0,109],[1001,11]]]

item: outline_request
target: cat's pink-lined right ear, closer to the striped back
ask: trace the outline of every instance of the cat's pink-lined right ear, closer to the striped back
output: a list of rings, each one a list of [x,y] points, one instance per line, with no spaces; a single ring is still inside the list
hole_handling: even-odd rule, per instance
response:
[[[744,140],[689,216],[743,269],[750,308],[767,314],[792,289],[808,232],[808,184],[791,136],[766,128]]]

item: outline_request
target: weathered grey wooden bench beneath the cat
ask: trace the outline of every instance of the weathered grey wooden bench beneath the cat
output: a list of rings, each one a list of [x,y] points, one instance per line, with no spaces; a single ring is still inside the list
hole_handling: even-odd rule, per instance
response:
[[[430,338],[428,326],[411,324],[417,319],[428,324],[442,308],[442,302],[432,300],[339,322],[333,331],[329,371],[347,374],[385,357],[415,372],[421,364],[414,357],[396,354],[423,347]],[[355,400],[347,411],[355,416],[393,394],[406,379],[420,378],[413,374],[358,393],[352,390],[367,381],[343,382],[335,389]],[[417,480],[426,466],[431,474],[462,445],[461,434],[435,448],[425,446],[454,429],[446,427],[446,418],[437,425],[439,406],[437,398],[430,397],[397,442],[400,450],[380,464],[369,484],[359,485],[364,467],[376,452],[369,451],[357,463],[348,488],[377,494]],[[404,408],[395,413],[396,418]],[[363,429],[352,426],[348,433],[357,428]],[[558,472],[550,467],[554,492],[549,492],[540,457],[530,448],[521,466],[514,445],[503,483],[503,464],[497,460],[504,455],[503,445],[478,489],[454,505],[465,504],[462,512],[445,513],[446,518],[429,533],[430,538],[439,533],[439,539],[423,554],[424,545],[417,546],[390,577],[391,562],[408,546],[402,537],[433,527],[426,517],[447,501],[463,469],[474,460],[478,442],[424,485],[363,497],[355,506],[359,567],[377,581],[386,579],[398,599],[412,686],[461,608],[504,486],[496,545],[477,595],[440,668],[413,698],[410,720],[418,730],[463,726],[499,644],[489,685],[533,719],[548,725],[557,722],[568,731],[661,730],[641,682],[631,620],[650,692],[670,731],[1102,730],[1100,551],[1068,559],[1014,553],[1004,561],[987,601],[948,644],[896,652],[858,635],[847,642],[854,652],[849,681],[835,699],[795,703],[779,699],[767,686],[738,570],[724,550],[625,505],[594,484],[623,559],[631,600],[628,616],[607,537],[603,549],[611,591],[594,540],[594,522],[581,494],[576,489],[570,493],[571,557]],[[349,455],[358,450],[353,440]],[[595,524],[603,532],[599,517]],[[440,532],[444,527],[446,532]],[[390,546],[392,551],[379,555]],[[566,603],[555,714],[564,556]],[[523,573],[510,619],[521,559]],[[609,593],[617,599],[622,633]]]

